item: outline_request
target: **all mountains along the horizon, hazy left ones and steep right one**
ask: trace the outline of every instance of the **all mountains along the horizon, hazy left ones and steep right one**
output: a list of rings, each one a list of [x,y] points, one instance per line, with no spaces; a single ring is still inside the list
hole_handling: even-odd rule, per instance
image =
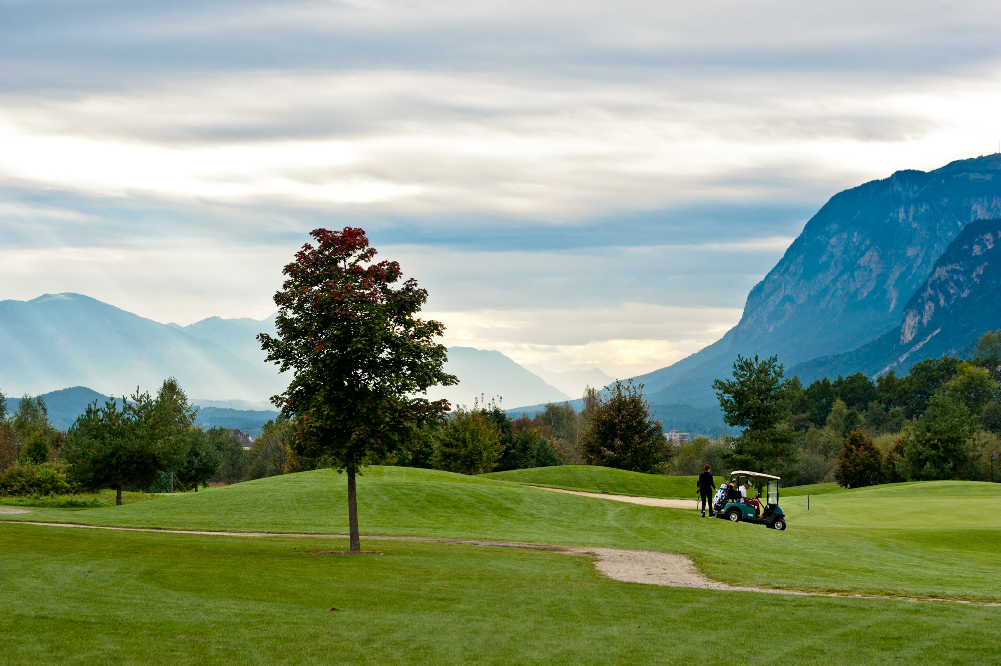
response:
[[[776,354],[809,383],[860,370],[904,374],[928,356],[961,353],[1001,328],[999,219],[1001,154],[840,192],[751,290],[734,328],[635,379],[665,417],[711,424],[712,382],[730,375],[738,354]],[[273,330],[274,315],[179,326],[73,293],[0,301],[0,388],[16,395],[79,385],[120,396],[173,375],[206,407],[254,411],[285,386],[255,340]],[[598,369],[557,373],[469,347],[449,349],[447,370],[461,383],[432,389],[432,399],[471,406],[497,397],[513,412],[576,404],[585,386],[611,381]]]

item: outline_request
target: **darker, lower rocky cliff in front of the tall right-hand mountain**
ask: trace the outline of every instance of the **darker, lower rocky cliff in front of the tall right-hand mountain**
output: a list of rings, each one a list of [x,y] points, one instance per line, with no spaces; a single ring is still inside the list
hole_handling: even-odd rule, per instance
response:
[[[906,374],[925,358],[957,354],[985,331],[1001,328],[1001,220],[971,222],[935,262],[908,300],[898,327],[834,357],[794,368],[802,379],[862,371]]]

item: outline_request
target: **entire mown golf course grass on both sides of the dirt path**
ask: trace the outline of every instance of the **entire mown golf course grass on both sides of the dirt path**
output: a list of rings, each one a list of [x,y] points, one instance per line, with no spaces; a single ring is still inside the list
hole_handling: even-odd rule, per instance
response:
[[[663,551],[732,585],[1001,601],[1001,518],[991,510],[1001,484],[812,493],[809,510],[805,494],[790,493],[780,501],[789,528],[778,532],[531,487],[647,495],[657,486],[647,496],[670,497],[694,486],[573,468],[479,477],[369,468],[358,480],[362,547],[384,554],[363,557],[301,554],[342,550],[342,539],[23,524],[343,534],[346,481],[330,470],[120,507],[3,514],[0,652],[12,663],[709,663],[737,656],[739,628],[755,662],[994,658],[998,607],[660,587],[605,578],[581,556],[364,538]]]

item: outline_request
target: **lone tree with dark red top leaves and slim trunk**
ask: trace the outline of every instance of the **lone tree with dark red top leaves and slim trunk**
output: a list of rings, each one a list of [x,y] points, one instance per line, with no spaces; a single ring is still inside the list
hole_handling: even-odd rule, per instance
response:
[[[442,366],[446,349],[434,342],[444,327],[415,318],[427,291],[402,277],[395,261],[373,263],[361,229],[316,229],[282,271],[274,295],[277,335],[257,339],[267,360],[294,372],[271,402],[295,423],[292,449],[347,473],[351,553],[360,553],[359,468],[390,459],[413,431],[439,420],[449,406],[411,397],[436,384],[456,384]]]

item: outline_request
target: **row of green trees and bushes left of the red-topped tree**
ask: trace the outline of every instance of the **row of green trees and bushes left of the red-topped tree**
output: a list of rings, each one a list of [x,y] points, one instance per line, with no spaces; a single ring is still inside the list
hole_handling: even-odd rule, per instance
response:
[[[49,495],[116,490],[197,492],[209,483],[236,483],[281,474],[292,424],[268,421],[250,450],[221,428],[203,430],[173,377],[156,395],[87,406],[65,432],[48,419],[45,400],[25,396],[14,414],[0,393],[0,494]],[[18,446],[18,444],[20,446]]]

